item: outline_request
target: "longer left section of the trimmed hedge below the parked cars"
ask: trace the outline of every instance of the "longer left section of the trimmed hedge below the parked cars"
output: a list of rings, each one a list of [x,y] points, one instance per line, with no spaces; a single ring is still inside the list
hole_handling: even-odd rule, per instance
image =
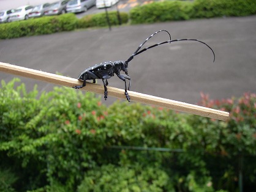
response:
[[[0,39],[72,31],[77,28],[77,17],[72,14],[34,18],[0,25]]]

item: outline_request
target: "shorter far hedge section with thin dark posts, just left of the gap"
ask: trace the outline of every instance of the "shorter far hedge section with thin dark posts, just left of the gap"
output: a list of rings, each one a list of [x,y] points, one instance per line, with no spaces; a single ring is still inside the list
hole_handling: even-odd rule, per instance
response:
[[[121,18],[121,23],[127,23],[128,22],[128,13],[120,12],[119,13]],[[110,20],[111,26],[118,25],[118,13],[108,12],[108,17]],[[86,15],[85,17],[81,18],[78,21],[78,28],[91,28],[91,27],[102,27],[102,26],[108,26],[106,13],[96,13],[94,15]]]

